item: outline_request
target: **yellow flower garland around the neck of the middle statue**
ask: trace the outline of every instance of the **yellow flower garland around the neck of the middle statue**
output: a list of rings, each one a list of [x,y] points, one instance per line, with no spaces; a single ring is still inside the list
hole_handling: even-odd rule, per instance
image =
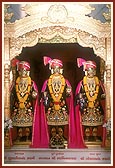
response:
[[[62,93],[64,91],[65,79],[64,79],[63,75],[59,74],[59,76],[61,78],[61,81],[62,81],[62,86],[61,86],[60,93],[59,93],[58,97],[55,97],[55,95],[53,93],[53,89],[52,89],[52,78],[54,76],[55,76],[55,74],[52,74],[50,76],[50,78],[48,79],[48,87],[49,87],[49,91],[50,91],[51,97],[54,100],[54,108],[55,108],[55,110],[59,110],[60,109],[59,102],[60,102],[60,99],[62,97]]]

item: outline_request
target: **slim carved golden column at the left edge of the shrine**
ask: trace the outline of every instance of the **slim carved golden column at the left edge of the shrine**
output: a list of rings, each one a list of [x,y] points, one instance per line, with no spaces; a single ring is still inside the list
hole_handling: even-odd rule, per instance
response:
[[[9,38],[4,39],[4,147],[11,146]]]

